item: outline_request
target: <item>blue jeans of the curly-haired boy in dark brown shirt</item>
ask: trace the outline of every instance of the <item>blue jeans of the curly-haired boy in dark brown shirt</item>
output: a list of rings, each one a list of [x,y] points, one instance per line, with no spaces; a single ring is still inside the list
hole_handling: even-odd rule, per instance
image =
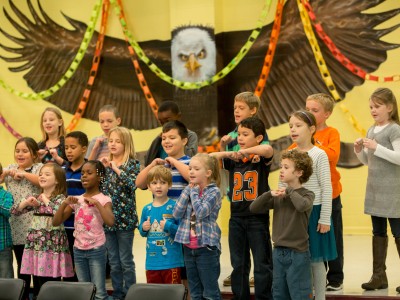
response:
[[[312,299],[310,252],[297,252],[285,247],[276,247],[272,252],[272,257],[274,300]]]

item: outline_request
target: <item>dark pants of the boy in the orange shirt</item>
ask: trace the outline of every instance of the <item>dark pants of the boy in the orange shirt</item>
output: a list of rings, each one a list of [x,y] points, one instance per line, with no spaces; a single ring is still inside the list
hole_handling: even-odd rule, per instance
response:
[[[336,250],[338,256],[334,260],[328,261],[328,273],[326,275],[329,283],[343,283],[343,221],[342,221],[342,201],[340,196],[332,200],[332,226],[335,233]]]

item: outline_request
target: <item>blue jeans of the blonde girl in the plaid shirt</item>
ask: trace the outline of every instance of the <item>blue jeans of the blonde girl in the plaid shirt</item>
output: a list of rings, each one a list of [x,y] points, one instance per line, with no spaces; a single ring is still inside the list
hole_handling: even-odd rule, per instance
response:
[[[215,246],[190,249],[183,247],[186,272],[192,300],[220,300],[218,278],[221,252]]]

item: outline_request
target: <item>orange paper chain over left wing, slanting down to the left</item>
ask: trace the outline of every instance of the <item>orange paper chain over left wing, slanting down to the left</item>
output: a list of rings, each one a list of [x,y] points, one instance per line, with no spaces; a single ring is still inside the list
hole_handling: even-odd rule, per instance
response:
[[[96,49],[95,49],[93,60],[92,60],[92,67],[90,68],[90,72],[89,72],[89,79],[86,84],[86,88],[83,92],[82,98],[78,104],[78,108],[76,109],[71,122],[69,123],[69,125],[66,128],[67,132],[74,130],[76,125],[78,125],[78,122],[82,118],[82,116],[85,112],[86,106],[89,102],[90,94],[93,89],[93,84],[94,84],[94,81],[96,80],[97,71],[99,70],[99,66],[100,66],[100,57],[101,57],[101,52],[103,50],[103,45],[104,45],[104,36],[106,34],[109,7],[110,7],[110,1],[104,0],[102,9],[101,9],[100,32],[99,32],[99,35],[98,35],[98,38],[96,41]]]

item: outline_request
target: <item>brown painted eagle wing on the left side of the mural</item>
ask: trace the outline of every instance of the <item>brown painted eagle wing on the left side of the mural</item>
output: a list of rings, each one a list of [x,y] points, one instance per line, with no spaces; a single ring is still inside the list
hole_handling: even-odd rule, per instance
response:
[[[68,30],[50,19],[40,3],[42,18],[35,11],[31,0],[27,3],[33,22],[10,1],[12,11],[24,27],[3,9],[6,18],[22,38],[0,28],[8,39],[19,46],[1,44],[4,50],[16,54],[14,57],[1,58],[16,64],[9,68],[13,72],[27,71],[24,79],[28,86],[35,92],[41,92],[56,84],[68,70],[79,50],[87,26],[64,16],[73,27],[72,30]],[[90,75],[97,38],[98,33],[95,32],[75,74],[59,91],[48,97],[47,101],[70,113],[76,111]],[[141,46],[157,65],[170,68],[170,41],[148,41]],[[151,90],[157,91],[153,94],[156,100],[171,96],[172,88],[167,83],[159,80],[143,63],[141,68]],[[113,104],[118,108],[122,123],[126,127],[144,130],[159,126],[140,88],[128,52],[128,44],[124,40],[109,36],[105,36],[104,39],[100,67],[84,117],[97,120],[99,108],[105,104]]]

